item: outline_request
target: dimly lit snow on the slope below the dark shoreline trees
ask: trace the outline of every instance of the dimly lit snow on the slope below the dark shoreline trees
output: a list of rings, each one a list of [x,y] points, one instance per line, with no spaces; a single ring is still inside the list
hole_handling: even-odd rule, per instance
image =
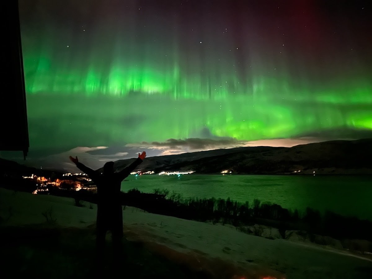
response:
[[[42,224],[51,212],[60,227],[94,224],[96,205],[74,205],[71,198],[32,195],[0,188],[2,225]],[[126,207],[124,235],[145,243],[154,253],[213,272],[230,264],[236,278],[370,278],[372,259],[312,243],[269,240],[248,235],[230,225],[213,225],[151,214]]]

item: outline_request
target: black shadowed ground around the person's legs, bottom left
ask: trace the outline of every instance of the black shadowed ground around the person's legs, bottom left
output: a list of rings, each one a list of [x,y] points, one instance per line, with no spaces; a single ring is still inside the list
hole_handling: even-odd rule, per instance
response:
[[[2,278],[97,278],[94,230],[1,227]],[[124,240],[126,259],[112,274],[110,239],[105,278],[212,278],[206,272],[150,253],[141,243]],[[6,277],[3,277],[6,275]]]

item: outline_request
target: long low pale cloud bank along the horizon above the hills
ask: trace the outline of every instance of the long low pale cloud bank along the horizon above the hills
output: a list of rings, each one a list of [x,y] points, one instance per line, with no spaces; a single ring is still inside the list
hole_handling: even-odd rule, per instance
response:
[[[97,146],[97,147],[75,147],[62,153],[56,153],[40,158],[28,158],[28,164],[31,166],[43,168],[53,168],[59,170],[77,171],[76,166],[71,163],[68,156],[77,156],[86,166],[92,169],[99,169],[108,161],[117,161],[137,157],[138,152],[146,151],[147,156],[175,155],[186,152],[196,152],[204,150],[213,150],[220,148],[234,147],[292,147],[299,144],[308,144],[334,140],[334,138],[324,137],[298,137],[298,138],[278,138],[270,140],[243,141],[235,138],[186,138],[174,139],[158,142],[139,142],[130,143],[124,146]],[[20,161],[20,163],[22,163]],[[23,162],[24,163],[24,162]]]

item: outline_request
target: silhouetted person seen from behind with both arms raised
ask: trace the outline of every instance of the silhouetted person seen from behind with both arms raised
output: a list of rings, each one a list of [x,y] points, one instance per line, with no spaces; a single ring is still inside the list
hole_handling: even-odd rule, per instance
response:
[[[123,238],[123,210],[121,204],[121,182],[124,180],[146,157],[146,152],[138,153],[138,158],[125,169],[114,172],[114,163],[107,162],[102,173],[84,166],[78,158],[70,156],[70,160],[86,173],[97,185],[97,264],[98,268],[104,266],[103,255],[105,250],[106,232],[112,233],[113,256],[115,261],[120,261]],[[115,264],[117,267],[117,265]]]

